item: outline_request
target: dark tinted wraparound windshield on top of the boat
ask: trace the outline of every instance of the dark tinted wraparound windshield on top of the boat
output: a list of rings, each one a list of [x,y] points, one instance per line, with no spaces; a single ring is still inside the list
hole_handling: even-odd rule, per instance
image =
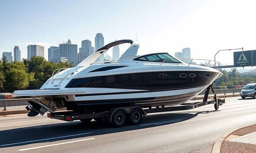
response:
[[[134,60],[136,61],[150,61],[150,62],[180,62],[173,58],[171,55],[167,53],[163,54],[150,54],[150,55],[145,55],[145,56],[140,56],[138,58],[135,58]]]

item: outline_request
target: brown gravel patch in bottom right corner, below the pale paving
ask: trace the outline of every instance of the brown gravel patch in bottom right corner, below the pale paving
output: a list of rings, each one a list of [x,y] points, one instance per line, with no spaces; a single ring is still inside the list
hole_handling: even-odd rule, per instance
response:
[[[256,145],[249,143],[224,141],[220,147],[220,153],[255,153]]]

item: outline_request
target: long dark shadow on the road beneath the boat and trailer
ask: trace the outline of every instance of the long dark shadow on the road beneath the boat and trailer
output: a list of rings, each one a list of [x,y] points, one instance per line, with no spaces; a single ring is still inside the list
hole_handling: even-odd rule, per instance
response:
[[[58,124],[48,124],[26,128],[15,128],[0,131],[0,148],[12,146],[22,146],[38,142],[55,142],[74,138],[85,138],[89,136],[105,135],[124,131],[138,129],[150,130],[149,128],[182,122],[196,117],[198,114],[213,113],[216,111],[205,112],[182,112],[182,113],[161,113],[147,115],[139,125],[127,124],[121,128],[113,128],[110,124],[104,122],[91,121],[85,125],[80,121],[65,122]],[[68,124],[70,123],[70,124]],[[92,132],[92,133],[90,133]],[[89,134],[84,134],[89,133]],[[82,134],[82,135],[78,135]],[[75,135],[75,136],[68,136]],[[67,136],[67,137],[63,137]],[[61,137],[61,138],[56,138]],[[53,138],[53,139],[49,139]],[[44,140],[45,139],[45,140]],[[40,140],[40,141],[38,141]],[[20,143],[21,142],[21,143]],[[12,144],[16,143],[16,144]],[[12,145],[5,145],[12,144]],[[4,145],[4,146],[3,146]]]

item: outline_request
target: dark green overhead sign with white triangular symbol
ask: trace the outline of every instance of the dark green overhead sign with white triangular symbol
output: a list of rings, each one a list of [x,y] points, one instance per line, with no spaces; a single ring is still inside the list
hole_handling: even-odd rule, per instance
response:
[[[234,52],[234,67],[256,66],[256,50]]]

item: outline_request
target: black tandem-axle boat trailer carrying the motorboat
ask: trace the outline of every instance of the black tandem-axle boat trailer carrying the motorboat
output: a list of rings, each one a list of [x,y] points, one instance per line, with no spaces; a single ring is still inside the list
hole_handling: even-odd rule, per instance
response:
[[[214,93],[214,98],[213,100],[207,101],[210,90]],[[116,127],[121,127],[124,125],[124,123],[119,124],[118,121],[120,120],[120,116],[121,116],[121,119],[123,117],[124,122],[126,121],[126,118],[130,119],[130,121],[135,119],[133,120],[132,124],[137,125],[140,123],[142,116],[146,116],[147,113],[188,110],[188,109],[193,109],[193,108],[208,105],[208,104],[214,104],[215,110],[218,110],[219,106],[221,106],[223,103],[225,103],[225,99],[217,99],[216,93],[212,85],[210,85],[206,88],[203,102],[184,103],[179,106],[167,106],[167,107],[164,107],[164,105],[162,105],[158,107],[149,107],[147,109],[143,109],[139,106],[113,107],[106,112],[98,112],[98,113],[97,112],[77,113],[75,111],[52,112],[52,113],[47,113],[47,117],[52,119],[57,119],[57,120],[69,121],[69,122],[72,122],[74,120],[80,120],[82,122],[87,122],[87,123],[90,122],[92,119],[104,120],[104,121],[113,123],[113,125]],[[121,112],[124,112],[124,114],[122,114]]]

